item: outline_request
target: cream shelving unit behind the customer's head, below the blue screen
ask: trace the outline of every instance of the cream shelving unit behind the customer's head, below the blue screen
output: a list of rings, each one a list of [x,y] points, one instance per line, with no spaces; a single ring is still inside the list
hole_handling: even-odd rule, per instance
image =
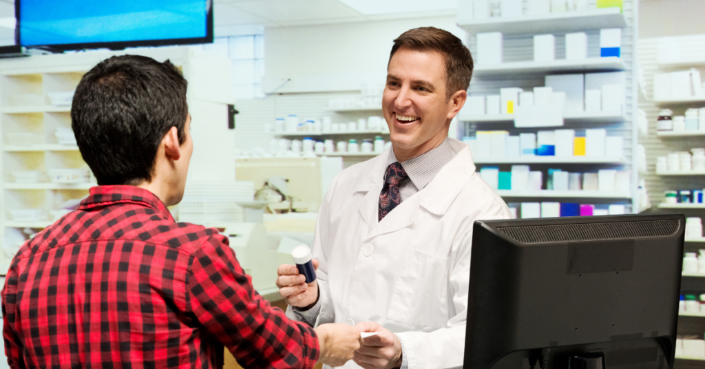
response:
[[[0,60],[0,239],[6,229],[44,228],[51,224],[51,210],[63,202],[87,195],[95,179],[85,183],[18,183],[13,172],[51,169],[87,169],[76,145],[61,145],[57,128],[71,128],[71,106],[51,104],[52,92],[72,92],[82,75],[99,61],[126,52],[85,52],[30,56]],[[230,84],[231,61],[191,47],[133,49],[158,61],[169,59],[189,81],[188,104],[192,116],[191,134],[195,152],[189,178],[228,176],[235,178],[233,134],[227,128],[227,104],[233,102]],[[200,145],[202,143],[202,145]],[[219,157],[218,161],[212,157]],[[224,161],[224,162],[223,162]],[[20,222],[12,210],[43,210],[47,217]],[[7,270],[10,255],[0,253],[0,274]]]

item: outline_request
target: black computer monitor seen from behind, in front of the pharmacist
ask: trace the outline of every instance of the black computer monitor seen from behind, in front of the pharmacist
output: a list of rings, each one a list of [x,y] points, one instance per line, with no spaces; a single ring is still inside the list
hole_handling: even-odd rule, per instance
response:
[[[682,214],[475,222],[463,367],[673,368],[684,231]]]

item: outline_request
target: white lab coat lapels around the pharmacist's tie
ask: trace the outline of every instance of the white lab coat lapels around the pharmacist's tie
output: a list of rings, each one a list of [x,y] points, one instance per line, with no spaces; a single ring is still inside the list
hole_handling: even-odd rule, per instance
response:
[[[371,160],[369,169],[362,175],[353,190],[353,193],[367,193],[360,203],[359,210],[369,229],[372,229],[369,237],[393,232],[412,224],[419,205],[439,216],[446,213],[453,199],[460,193],[462,187],[475,171],[470,147],[467,144],[450,139],[450,147],[456,152],[453,160],[446,164],[439,174],[436,174],[436,177],[426,188],[404,200],[398,205],[398,211],[388,214],[387,217],[393,217],[393,219],[389,219],[393,222],[377,221],[379,193],[384,184],[386,158],[391,147]]]

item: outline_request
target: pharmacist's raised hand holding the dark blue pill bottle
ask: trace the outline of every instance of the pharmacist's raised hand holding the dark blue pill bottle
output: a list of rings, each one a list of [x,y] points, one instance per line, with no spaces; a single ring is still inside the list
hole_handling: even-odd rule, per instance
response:
[[[313,259],[312,261],[314,269],[318,270],[318,260]],[[306,277],[304,274],[299,274],[296,265],[279,265],[276,272],[279,274],[276,279],[279,294],[290,306],[306,308],[318,301],[318,279],[307,284]]]

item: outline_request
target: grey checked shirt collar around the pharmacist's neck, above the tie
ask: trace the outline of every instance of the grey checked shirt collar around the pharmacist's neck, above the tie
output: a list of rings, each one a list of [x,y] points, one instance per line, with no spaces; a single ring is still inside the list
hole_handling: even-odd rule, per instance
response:
[[[455,151],[453,151],[453,147],[450,147],[450,142],[446,138],[441,145],[400,164],[409,175],[410,181],[420,191],[434,179],[444,165],[453,160],[453,157],[455,157]],[[394,150],[389,150],[387,166],[395,162],[397,162],[397,159],[396,155],[394,155]]]

